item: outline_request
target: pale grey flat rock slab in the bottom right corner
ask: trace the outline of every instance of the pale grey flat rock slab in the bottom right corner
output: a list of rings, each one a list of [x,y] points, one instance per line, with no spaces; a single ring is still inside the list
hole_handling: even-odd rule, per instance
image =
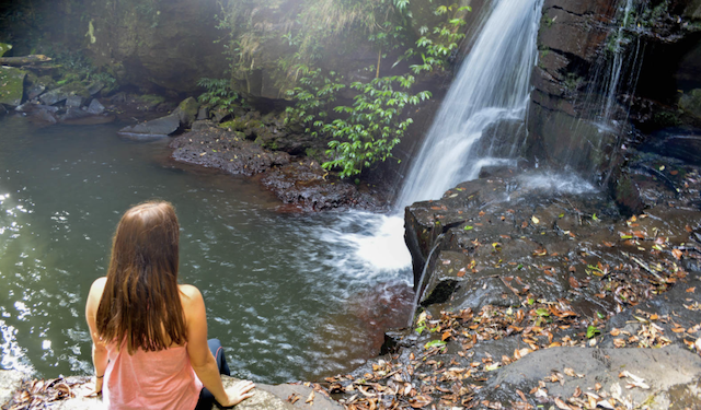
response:
[[[565,368],[574,371],[575,376],[565,375]],[[650,388],[634,386],[634,378],[630,376],[620,377],[624,371],[644,379]],[[539,380],[545,380],[550,399],[559,397],[566,402],[577,388],[596,393],[598,383],[601,385],[598,395],[606,391],[614,396],[620,389],[620,397],[632,403],[668,409],[675,400],[670,389],[698,383],[701,358],[678,344],[662,349],[553,348],[533,352],[498,372],[484,388],[490,391],[486,397],[490,401],[520,401],[514,395],[516,389],[532,398],[529,391],[538,387]],[[551,382],[555,372],[564,375],[562,382]],[[502,397],[505,394],[508,397]]]

